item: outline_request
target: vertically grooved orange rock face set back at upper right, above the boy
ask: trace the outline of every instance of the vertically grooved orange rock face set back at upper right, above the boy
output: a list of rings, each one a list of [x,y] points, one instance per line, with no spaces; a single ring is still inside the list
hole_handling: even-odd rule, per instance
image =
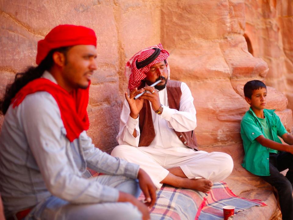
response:
[[[293,1],[245,0],[249,51],[268,64],[265,78],[288,98],[293,109]]]

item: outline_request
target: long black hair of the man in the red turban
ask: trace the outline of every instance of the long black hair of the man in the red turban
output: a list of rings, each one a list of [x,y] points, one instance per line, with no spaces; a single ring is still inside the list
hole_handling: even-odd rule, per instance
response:
[[[2,115],[6,114],[11,100],[22,87],[24,87],[32,80],[40,78],[45,70],[50,71],[54,64],[52,57],[54,52],[61,52],[66,57],[66,53],[69,48],[70,47],[60,47],[53,49],[48,53],[45,59],[42,60],[42,62],[37,67],[30,66],[25,72],[17,73],[15,75],[14,82],[6,86],[5,94],[0,100],[0,113]]]

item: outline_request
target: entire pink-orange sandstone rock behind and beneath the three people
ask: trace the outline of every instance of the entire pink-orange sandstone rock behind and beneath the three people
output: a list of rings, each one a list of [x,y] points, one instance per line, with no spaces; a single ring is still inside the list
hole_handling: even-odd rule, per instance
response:
[[[171,79],[186,82],[194,96],[200,149],[232,155],[235,167],[225,180],[230,188],[268,204],[234,219],[273,217],[277,204],[271,187],[240,165],[244,152],[239,131],[249,108],[243,86],[260,79],[269,85],[268,108],[276,109],[292,132],[290,0],[4,0],[0,9],[1,94],[16,72],[35,65],[37,42],[54,26],[71,23],[96,31],[98,70],[90,89],[88,133],[106,152],[117,145],[127,87],[125,62],[141,48],[162,42],[171,53]]]

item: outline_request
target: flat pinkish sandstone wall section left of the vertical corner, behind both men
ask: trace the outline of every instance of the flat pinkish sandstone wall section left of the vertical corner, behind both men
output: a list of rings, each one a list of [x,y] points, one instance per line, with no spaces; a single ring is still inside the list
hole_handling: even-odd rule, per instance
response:
[[[75,24],[93,28],[98,70],[90,89],[89,135],[96,146],[111,152],[117,145],[127,88],[125,62],[141,47],[160,42],[160,16],[160,2],[152,0],[0,0],[1,92],[16,72],[35,65],[37,42],[53,27]]]

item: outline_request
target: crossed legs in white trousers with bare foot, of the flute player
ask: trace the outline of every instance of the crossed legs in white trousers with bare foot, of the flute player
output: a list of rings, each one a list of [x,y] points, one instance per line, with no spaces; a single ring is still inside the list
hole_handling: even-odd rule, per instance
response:
[[[233,169],[232,158],[222,152],[207,153],[193,151],[182,156],[157,155],[146,152],[147,148],[119,145],[111,153],[129,162],[139,164],[149,175],[158,189],[162,184],[178,188],[195,189],[208,192],[212,182],[220,181],[230,175]]]

